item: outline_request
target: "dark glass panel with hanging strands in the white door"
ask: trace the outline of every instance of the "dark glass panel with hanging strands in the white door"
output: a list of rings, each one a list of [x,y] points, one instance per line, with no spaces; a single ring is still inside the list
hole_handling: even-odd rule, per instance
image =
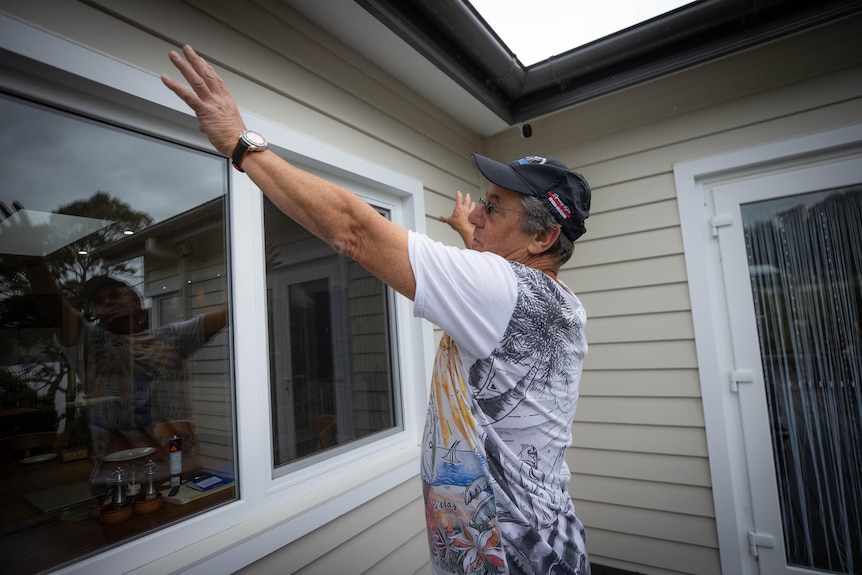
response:
[[[742,206],[787,562],[862,572],[862,186]]]

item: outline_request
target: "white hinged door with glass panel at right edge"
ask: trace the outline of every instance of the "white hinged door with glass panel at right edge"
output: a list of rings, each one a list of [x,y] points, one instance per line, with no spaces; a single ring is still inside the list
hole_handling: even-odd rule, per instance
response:
[[[862,157],[709,186],[761,575],[862,573]],[[752,523],[747,523],[751,521]]]

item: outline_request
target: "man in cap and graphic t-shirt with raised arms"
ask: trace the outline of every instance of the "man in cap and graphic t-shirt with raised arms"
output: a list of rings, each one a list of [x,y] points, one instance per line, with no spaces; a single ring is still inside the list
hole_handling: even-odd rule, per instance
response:
[[[444,246],[266,149],[222,79],[186,46],[171,52],[193,90],[163,75],[216,149],[285,214],[414,301],[442,327],[423,438],[435,573],[590,571],[564,461],[586,314],[557,278],[584,233],[590,189],[556,160],[500,164],[473,209],[471,250]],[[238,138],[239,136],[239,138]]]

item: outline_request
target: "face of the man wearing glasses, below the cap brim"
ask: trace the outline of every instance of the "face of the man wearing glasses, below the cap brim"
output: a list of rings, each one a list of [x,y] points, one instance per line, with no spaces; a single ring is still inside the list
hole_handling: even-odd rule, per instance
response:
[[[484,202],[470,212],[467,220],[475,227],[471,248],[491,252],[510,261],[525,262],[527,247],[533,235],[521,231],[521,194],[501,188],[488,187]]]

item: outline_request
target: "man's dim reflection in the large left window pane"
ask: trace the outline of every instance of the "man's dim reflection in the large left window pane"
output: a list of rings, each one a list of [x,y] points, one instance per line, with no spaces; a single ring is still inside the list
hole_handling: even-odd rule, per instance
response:
[[[79,316],[62,339],[83,384],[93,455],[99,461],[157,445],[157,424],[189,417],[187,360],[227,324],[227,304],[145,329],[141,298],[125,282],[96,276],[84,284],[84,295],[97,322]]]

